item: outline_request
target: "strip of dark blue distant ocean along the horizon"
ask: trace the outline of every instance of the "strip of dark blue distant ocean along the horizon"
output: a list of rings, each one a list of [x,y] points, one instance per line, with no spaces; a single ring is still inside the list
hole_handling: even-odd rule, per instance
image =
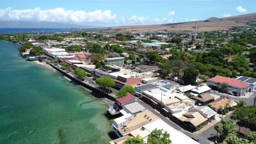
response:
[[[85,31],[83,29],[67,29],[67,28],[0,28],[1,33],[60,33]]]

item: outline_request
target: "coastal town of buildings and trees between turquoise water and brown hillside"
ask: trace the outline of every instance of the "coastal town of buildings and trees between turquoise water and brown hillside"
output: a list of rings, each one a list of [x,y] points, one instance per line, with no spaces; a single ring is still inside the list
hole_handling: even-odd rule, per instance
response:
[[[256,25],[222,31],[0,34],[27,61],[48,64],[110,101],[109,143],[255,143]],[[164,132],[163,132],[164,133]],[[254,139],[251,137],[254,136]]]

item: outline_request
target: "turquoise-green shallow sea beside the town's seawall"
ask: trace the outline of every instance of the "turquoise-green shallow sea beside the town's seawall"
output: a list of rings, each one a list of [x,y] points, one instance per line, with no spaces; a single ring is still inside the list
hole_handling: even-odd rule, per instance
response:
[[[106,105],[0,40],[0,143],[109,143]]]

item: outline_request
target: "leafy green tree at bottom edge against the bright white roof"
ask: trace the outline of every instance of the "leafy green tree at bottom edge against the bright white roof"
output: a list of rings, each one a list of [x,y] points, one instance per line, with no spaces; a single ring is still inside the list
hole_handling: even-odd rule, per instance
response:
[[[151,134],[148,135],[148,144],[170,144],[170,134],[162,129],[154,129]]]

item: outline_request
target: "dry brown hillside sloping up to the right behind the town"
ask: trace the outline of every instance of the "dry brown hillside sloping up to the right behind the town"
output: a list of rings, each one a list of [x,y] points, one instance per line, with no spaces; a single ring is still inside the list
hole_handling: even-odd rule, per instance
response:
[[[256,13],[225,18],[210,17],[197,21],[197,31],[217,31],[237,26],[247,26],[248,22],[256,22]],[[107,32],[144,32],[144,31],[194,31],[195,22],[167,23],[162,25],[120,26],[98,28]]]

